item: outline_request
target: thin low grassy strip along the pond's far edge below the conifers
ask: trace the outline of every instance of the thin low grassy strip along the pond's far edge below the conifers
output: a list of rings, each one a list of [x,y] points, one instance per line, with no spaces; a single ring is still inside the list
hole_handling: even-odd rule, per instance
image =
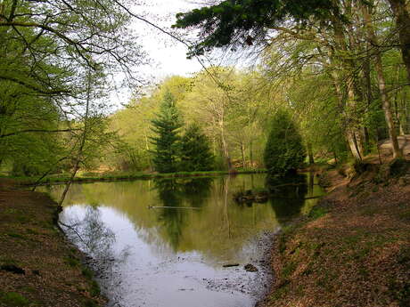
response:
[[[228,171],[209,171],[209,172],[179,172],[170,174],[159,173],[85,173],[80,174],[74,178],[74,182],[114,182],[114,181],[127,181],[136,179],[154,179],[154,178],[188,178],[188,177],[210,177],[220,176],[225,174],[258,174],[265,173],[265,169],[244,169],[236,170],[234,173]],[[70,174],[66,175],[49,175],[45,178],[39,176],[33,177],[3,177],[6,179],[12,179],[15,182],[19,182],[22,185],[33,184],[59,184],[70,181]]]

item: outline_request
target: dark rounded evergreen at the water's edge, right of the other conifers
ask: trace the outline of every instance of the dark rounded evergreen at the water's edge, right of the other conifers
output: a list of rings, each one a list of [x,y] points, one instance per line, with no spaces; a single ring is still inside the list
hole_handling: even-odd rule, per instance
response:
[[[279,111],[272,121],[265,148],[265,165],[270,174],[287,174],[305,160],[306,151],[297,127],[288,113]]]

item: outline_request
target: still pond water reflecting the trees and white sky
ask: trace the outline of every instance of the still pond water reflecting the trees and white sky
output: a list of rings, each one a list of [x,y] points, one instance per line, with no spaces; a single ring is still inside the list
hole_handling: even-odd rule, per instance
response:
[[[60,220],[109,306],[251,307],[271,278],[272,234],[322,194],[313,174],[298,181],[264,204],[234,193],[264,188],[265,174],[74,184]],[[58,198],[63,187],[46,189]]]

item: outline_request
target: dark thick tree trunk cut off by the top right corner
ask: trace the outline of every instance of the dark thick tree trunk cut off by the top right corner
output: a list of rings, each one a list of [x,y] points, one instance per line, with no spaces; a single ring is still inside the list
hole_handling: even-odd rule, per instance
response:
[[[389,0],[398,28],[401,55],[410,81],[410,12],[407,3],[406,0]]]

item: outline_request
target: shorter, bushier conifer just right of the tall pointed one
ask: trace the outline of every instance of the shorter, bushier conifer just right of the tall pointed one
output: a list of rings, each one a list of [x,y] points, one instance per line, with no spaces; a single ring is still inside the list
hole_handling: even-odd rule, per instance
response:
[[[181,144],[181,170],[185,172],[210,171],[214,156],[209,149],[208,138],[198,125],[189,125]]]

